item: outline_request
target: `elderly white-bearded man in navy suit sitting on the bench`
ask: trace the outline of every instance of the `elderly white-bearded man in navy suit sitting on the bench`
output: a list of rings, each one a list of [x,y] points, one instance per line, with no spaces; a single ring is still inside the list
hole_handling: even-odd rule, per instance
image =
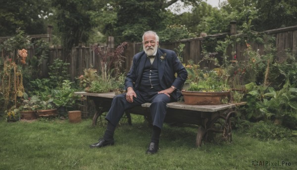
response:
[[[143,52],[133,57],[133,65],[127,74],[127,93],[113,98],[105,119],[108,121],[103,138],[91,148],[113,145],[113,133],[124,112],[144,103],[151,103],[152,136],[146,154],[158,151],[159,137],[166,115],[166,104],[177,100],[177,89],[187,79],[188,73],[175,52],[159,49],[159,37],[153,31],[143,35]],[[177,77],[175,77],[177,73]]]

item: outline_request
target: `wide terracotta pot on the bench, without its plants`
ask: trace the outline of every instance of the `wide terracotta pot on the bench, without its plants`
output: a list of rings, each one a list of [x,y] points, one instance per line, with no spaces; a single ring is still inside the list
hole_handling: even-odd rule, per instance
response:
[[[187,105],[220,105],[222,99],[230,100],[230,91],[224,92],[193,92],[182,90],[185,104]]]

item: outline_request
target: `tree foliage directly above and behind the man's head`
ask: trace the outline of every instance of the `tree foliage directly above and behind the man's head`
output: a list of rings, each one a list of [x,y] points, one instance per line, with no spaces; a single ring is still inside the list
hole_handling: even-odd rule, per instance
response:
[[[107,5],[99,13],[101,25],[99,29],[106,36],[116,37],[115,40],[118,41],[117,43],[123,41],[141,42],[144,31],[153,30],[159,33],[160,31],[164,32],[167,28],[170,28],[170,25],[175,25],[176,22],[174,22],[174,19],[176,16],[168,12],[166,8],[176,1],[177,0],[108,1]],[[186,4],[197,4],[200,0],[182,1]],[[162,38],[160,40],[162,40]]]

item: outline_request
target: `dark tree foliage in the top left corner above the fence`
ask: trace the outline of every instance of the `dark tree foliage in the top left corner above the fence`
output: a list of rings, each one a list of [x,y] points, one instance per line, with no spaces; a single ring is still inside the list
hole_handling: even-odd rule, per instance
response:
[[[17,28],[26,34],[46,33],[48,0],[0,0],[0,36],[13,36]]]

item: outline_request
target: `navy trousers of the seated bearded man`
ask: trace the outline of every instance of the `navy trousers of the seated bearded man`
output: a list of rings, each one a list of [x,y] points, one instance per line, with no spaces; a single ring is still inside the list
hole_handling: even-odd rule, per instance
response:
[[[126,100],[126,93],[115,96],[105,119],[116,126],[126,110],[140,106],[144,103],[151,103],[149,108],[152,117],[152,123],[154,126],[162,129],[163,121],[167,111],[166,104],[173,102],[173,98],[169,98],[165,94],[158,94],[158,91],[153,88],[147,91],[135,90],[135,93],[137,97],[133,98],[133,103],[129,103]]]

